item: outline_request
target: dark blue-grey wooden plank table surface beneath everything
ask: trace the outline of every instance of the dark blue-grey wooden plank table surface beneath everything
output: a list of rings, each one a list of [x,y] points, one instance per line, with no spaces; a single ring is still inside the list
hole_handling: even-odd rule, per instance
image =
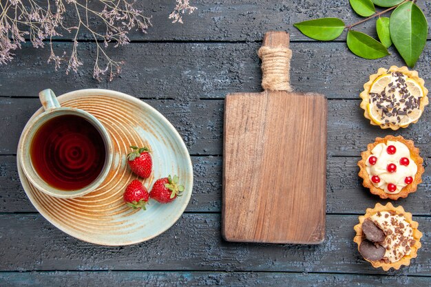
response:
[[[138,1],[140,2],[140,1]],[[392,55],[367,61],[337,41],[311,41],[292,24],[317,17],[358,21],[339,0],[193,0],[198,10],[185,24],[171,24],[174,1],[142,1],[153,15],[148,34],[113,52],[127,61],[111,83],[92,79],[94,43],[82,41],[85,67],[66,76],[48,65],[48,48],[30,44],[0,67],[0,286],[431,286],[431,111],[400,131],[371,126],[359,109],[359,92],[379,67],[403,65]],[[145,4],[144,2],[152,2]],[[430,2],[419,1],[428,21]],[[375,35],[373,21],[358,30]],[[222,240],[223,99],[229,92],[259,92],[256,50],[266,30],[287,30],[293,50],[291,82],[297,91],[328,97],[326,240],[317,246],[238,244]],[[71,43],[56,41],[56,50]],[[415,69],[431,87],[431,45]],[[39,108],[38,92],[105,88],[124,92],[162,112],[180,132],[193,160],[194,189],[187,211],[149,242],[103,247],[76,240],[36,212],[19,182],[16,148],[28,118]],[[423,232],[417,259],[401,270],[372,268],[357,252],[353,226],[376,202],[357,176],[359,154],[377,136],[414,140],[425,158],[423,184],[398,200]],[[313,151],[318,152],[318,151]],[[312,208],[312,206],[311,206]]]

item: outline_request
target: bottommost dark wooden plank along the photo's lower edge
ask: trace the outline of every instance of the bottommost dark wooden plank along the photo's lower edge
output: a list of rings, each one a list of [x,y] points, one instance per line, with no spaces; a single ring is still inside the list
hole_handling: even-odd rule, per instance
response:
[[[230,287],[361,287],[415,286],[427,287],[430,277],[344,275],[337,273],[260,273],[260,272],[151,272],[151,271],[98,271],[98,272],[25,272],[0,273],[3,287],[36,286],[230,286]],[[109,283],[107,283],[109,282]]]

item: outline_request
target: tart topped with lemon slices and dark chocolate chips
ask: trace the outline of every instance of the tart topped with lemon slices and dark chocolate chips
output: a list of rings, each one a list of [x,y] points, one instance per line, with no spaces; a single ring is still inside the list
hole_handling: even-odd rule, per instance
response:
[[[428,89],[416,71],[407,67],[381,67],[364,84],[361,108],[371,125],[397,130],[417,123],[428,105]]]

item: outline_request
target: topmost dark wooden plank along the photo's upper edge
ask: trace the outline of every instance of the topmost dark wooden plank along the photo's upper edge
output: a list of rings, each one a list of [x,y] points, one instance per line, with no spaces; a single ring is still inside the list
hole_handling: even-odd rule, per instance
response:
[[[39,1],[44,3],[44,0]],[[321,17],[339,17],[349,25],[362,19],[353,12],[348,1],[345,0],[193,0],[190,3],[198,10],[184,16],[183,24],[172,24],[168,15],[174,10],[175,1],[136,1],[136,8],[143,10],[143,14],[152,16],[153,27],[149,28],[147,34],[131,30],[130,39],[134,41],[260,41],[264,32],[268,30],[286,30],[291,34],[292,41],[304,41],[310,39],[294,28],[293,23]],[[430,23],[431,7],[428,2],[418,1],[417,4],[423,9]],[[67,16],[66,22],[71,23]],[[94,22],[90,20],[90,23]],[[100,21],[95,23],[95,27],[101,25]],[[369,21],[355,27],[355,30],[376,36],[374,23],[375,21]],[[64,33],[64,36],[65,39],[72,39],[74,34]],[[88,33],[83,33],[79,38],[92,39]],[[345,33],[340,39],[346,39]]]

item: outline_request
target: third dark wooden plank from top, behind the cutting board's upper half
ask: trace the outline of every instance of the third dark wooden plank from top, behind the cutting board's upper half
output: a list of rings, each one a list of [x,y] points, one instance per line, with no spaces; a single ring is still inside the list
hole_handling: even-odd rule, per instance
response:
[[[193,155],[221,155],[223,100],[145,100],[178,129]],[[360,156],[377,136],[388,134],[414,140],[422,157],[431,156],[431,107],[418,123],[392,131],[372,126],[359,108],[360,100],[328,100],[328,156]],[[40,107],[37,98],[0,98],[0,154],[14,154],[28,118]]]

